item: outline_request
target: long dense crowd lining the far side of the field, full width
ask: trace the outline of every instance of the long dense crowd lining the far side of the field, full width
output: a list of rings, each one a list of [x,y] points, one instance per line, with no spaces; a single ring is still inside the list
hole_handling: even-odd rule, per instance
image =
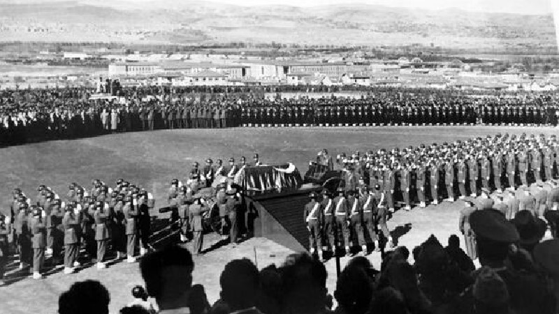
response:
[[[430,89],[370,89],[368,95],[262,98],[189,90],[123,89],[91,98],[85,89],[0,92],[0,146],[173,128],[535,125],[557,126],[552,94],[485,95]],[[205,95],[205,94],[204,94]]]

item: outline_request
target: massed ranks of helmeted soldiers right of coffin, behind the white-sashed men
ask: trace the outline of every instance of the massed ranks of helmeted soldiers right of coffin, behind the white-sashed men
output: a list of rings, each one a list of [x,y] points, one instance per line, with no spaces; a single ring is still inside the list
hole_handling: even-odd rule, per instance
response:
[[[397,202],[411,209],[428,202],[453,202],[488,190],[515,190],[518,186],[558,177],[559,143],[523,134],[477,137],[442,145],[407,149],[380,149],[352,156],[340,154],[336,166],[344,170],[347,190],[378,184],[386,193],[390,211]]]

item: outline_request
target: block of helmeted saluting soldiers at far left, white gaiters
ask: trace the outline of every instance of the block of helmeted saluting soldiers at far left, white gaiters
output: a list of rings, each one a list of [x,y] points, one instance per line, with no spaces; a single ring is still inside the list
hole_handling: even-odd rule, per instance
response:
[[[10,251],[18,255],[20,269],[32,265],[37,279],[47,257],[55,267],[64,260],[64,274],[71,274],[80,260],[106,268],[109,247],[117,260],[126,252],[127,262],[135,262],[140,239],[140,255],[147,253],[154,200],[146,190],[123,179],[114,188],[95,179],[89,193],[78,184],[68,186],[65,202],[48,186],[37,190],[31,202],[15,188],[10,214],[1,217],[0,279]]]

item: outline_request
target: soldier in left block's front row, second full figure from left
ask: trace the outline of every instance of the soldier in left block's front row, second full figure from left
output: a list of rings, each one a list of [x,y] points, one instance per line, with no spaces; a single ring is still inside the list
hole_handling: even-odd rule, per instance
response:
[[[78,236],[80,230],[80,211],[72,204],[64,208],[64,274],[72,274],[74,267],[78,267]]]

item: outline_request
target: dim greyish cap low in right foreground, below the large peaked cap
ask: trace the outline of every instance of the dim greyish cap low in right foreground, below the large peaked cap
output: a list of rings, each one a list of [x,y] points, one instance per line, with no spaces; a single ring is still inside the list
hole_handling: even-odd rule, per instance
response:
[[[491,268],[482,267],[473,287],[474,299],[495,306],[507,304],[509,291],[502,278]]]

